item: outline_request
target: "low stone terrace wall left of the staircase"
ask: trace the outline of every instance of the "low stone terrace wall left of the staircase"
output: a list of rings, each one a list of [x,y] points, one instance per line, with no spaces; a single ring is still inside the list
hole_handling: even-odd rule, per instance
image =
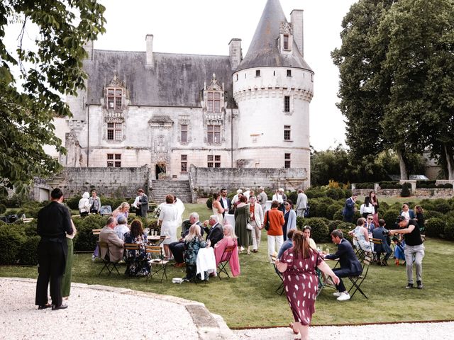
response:
[[[84,191],[95,189],[98,196],[125,197],[136,196],[137,189],[148,193],[150,170],[140,168],[65,168],[55,179],[48,183],[59,186],[66,197],[82,195]]]

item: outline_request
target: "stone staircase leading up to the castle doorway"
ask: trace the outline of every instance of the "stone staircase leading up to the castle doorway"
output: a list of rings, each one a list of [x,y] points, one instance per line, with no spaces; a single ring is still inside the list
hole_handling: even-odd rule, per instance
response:
[[[165,202],[165,196],[172,193],[183,203],[192,203],[191,188],[189,181],[172,181],[167,179],[159,179],[151,181],[151,200],[157,204]]]

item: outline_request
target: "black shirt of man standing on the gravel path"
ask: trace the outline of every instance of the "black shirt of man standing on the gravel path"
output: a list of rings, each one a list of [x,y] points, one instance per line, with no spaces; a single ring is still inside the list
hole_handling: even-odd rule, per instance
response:
[[[65,232],[73,232],[70,210],[52,201],[38,212],[38,235],[43,238],[65,238]]]

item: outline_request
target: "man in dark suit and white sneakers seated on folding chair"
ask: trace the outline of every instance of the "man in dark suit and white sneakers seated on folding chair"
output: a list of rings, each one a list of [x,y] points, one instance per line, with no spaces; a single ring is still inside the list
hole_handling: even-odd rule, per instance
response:
[[[342,231],[339,229],[334,229],[333,232],[331,232],[331,239],[333,240],[334,244],[338,245],[338,251],[336,251],[336,254],[325,255],[325,259],[339,259],[341,268],[333,269],[333,272],[336,273],[336,276],[338,276],[338,278],[347,278],[348,276],[360,275],[362,272],[361,263],[360,261],[358,261],[358,258],[356,257],[355,251],[353,251],[353,247],[350,242],[343,238]],[[339,280],[336,288],[338,292],[333,293],[333,295],[338,297],[338,301],[350,300],[350,294],[348,294],[348,291],[345,289],[345,285],[343,285],[342,279]]]

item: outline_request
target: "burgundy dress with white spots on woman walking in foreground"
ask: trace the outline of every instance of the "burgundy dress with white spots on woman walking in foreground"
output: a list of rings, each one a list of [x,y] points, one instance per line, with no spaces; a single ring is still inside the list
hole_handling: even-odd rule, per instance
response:
[[[323,261],[317,251],[311,249],[311,255],[303,259],[299,254],[294,259],[293,247],[282,254],[283,263],[287,263],[287,270],[282,273],[284,288],[289,300],[295,322],[309,325],[312,314],[315,312],[315,298],[319,287],[319,278],[316,266]]]

